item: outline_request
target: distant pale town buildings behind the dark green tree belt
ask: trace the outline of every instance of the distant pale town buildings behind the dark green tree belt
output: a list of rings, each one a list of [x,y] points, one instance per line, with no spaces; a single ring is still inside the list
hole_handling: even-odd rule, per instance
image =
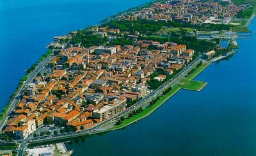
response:
[[[236,17],[238,12],[246,8],[246,4],[235,5],[230,1],[223,1],[223,3],[227,3],[227,5],[221,6],[218,2],[201,2],[200,0],[154,3],[148,8],[122,15],[120,19],[228,24],[230,19]]]

